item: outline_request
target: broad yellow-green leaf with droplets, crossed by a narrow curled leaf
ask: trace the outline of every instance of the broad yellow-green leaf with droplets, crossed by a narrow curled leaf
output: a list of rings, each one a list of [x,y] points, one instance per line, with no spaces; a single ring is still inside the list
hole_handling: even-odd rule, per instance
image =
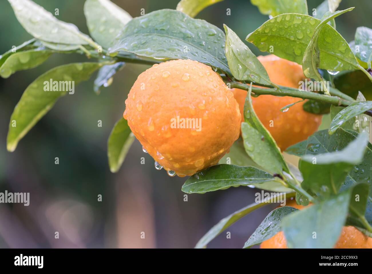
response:
[[[268,51],[269,46],[273,46],[275,55],[302,64],[305,50],[320,22],[319,19],[309,15],[282,14],[267,20],[256,31],[248,34],[246,39],[256,45],[260,51]],[[337,51],[333,56],[335,45],[337,45]],[[322,28],[318,37],[318,47],[320,51],[319,68],[327,70],[355,69],[355,56],[349,45],[330,25],[326,24]],[[339,64],[340,59],[347,61]],[[350,60],[352,64],[348,63]]]

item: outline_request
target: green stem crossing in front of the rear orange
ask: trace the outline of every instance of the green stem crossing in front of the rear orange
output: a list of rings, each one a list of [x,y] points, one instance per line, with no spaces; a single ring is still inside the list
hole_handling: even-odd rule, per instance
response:
[[[227,82],[230,83],[230,87],[236,87],[238,89],[243,89],[243,90],[249,90],[249,85],[245,85],[240,82],[235,82],[235,81],[230,81]],[[279,86],[280,89],[276,88],[261,88],[261,87],[254,87],[252,86],[252,92],[255,93],[256,95],[264,95],[264,94],[269,94],[269,95],[275,95],[275,96],[292,96],[292,97],[298,97],[302,99],[312,99],[312,100],[317,100],[320,102],[325,102],[325,103],[330,103],[332,105],[340,106],[348,106],[352,104],[353,101],[346,100],[343,98],[339,98],[336,96],[328,96],[328,95],[323,95],[315,92],[310,92],[310,91],[304,91],[304,90],[298,90],[294,88],[289,88],[289,87],[283,87]]]

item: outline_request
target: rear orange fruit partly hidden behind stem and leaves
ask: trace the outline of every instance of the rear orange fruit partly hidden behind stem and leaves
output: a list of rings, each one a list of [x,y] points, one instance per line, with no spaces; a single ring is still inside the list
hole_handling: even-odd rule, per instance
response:
[[[270,80],[282,86],[299,87],[299,82],[304,81],[305,76],[302,66],[279,58],[275,55],[257,57],[269,74]],[[234,97],[239,103],[242,121],[244,101],[247,91],[232,89]],[[252,105],[257,117],[278,144],[280,150],[285,150],[292,144],[305,140],[315,131],[321,123],[321,115],[312,114],[302,109],[304,102],[296,103],[288,111],[282,112],[280,108],[302,100],[290,96],[260,95],[252,97]]]

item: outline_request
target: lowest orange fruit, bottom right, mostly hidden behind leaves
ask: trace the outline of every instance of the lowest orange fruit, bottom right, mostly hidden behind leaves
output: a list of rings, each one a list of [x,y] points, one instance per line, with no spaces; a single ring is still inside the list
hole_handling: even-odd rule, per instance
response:
[[[296,204],[295,200],[287,201],[286,206],[304,208],[304,206]],[[260,248],[287,248],[283,231],[263,241]],[[372,248],[372,238],[364,235],[353,226],[344,226],[334,248]]]

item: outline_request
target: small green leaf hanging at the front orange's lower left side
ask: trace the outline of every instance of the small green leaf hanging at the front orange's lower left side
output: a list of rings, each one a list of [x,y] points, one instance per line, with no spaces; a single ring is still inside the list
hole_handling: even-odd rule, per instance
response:
[[[111,172],[118,172],[134,138],[134,134],[124,118],[116,122],[107,142],[107,156]]]

